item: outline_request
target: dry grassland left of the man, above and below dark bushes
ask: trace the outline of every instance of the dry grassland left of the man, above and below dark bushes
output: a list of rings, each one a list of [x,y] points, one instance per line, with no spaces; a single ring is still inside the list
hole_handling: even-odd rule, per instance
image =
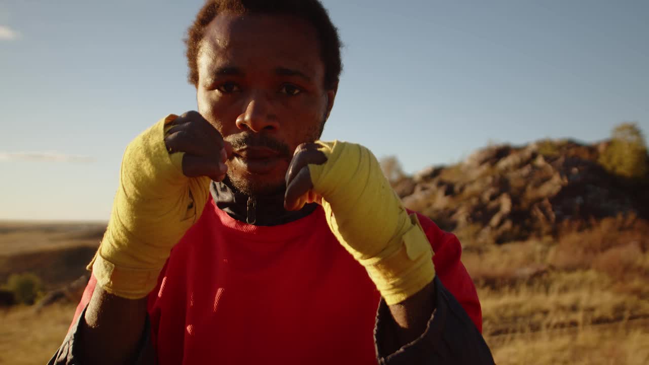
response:
[[[43,292],[77,279],[101,240],[105,223],[0,222],[0,286],[34,273]],[[0,308],[0,364],[45,364],[63,340],[75,304]]]

